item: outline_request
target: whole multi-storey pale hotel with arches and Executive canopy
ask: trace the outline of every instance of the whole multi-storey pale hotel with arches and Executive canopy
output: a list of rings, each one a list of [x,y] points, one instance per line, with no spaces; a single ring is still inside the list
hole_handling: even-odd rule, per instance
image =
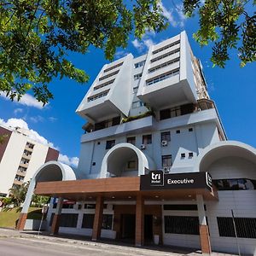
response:
[[[78,169],[41,166],[18,229],[35,189],[53,234],[256,255],[256,150],[227,140],[185,32],[103,66],[77,113]]]

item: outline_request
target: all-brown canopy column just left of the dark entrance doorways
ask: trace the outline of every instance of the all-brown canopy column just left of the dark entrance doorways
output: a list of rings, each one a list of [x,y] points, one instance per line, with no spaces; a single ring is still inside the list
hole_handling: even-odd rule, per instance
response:
[[[104,207],[103,197],[102,195],[98,195],[96,198],[96,209],[95,209],[95,216],[93,221],[93,230],[92,230],[92,237],[91,237],[92,241],[97,241],[101,237],[103,207]]]

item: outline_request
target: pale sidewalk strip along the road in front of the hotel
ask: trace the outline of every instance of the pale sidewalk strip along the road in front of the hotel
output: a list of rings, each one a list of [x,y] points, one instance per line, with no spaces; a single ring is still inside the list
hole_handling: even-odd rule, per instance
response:
[[[144,247],[134,247],[132,245],[126,244],[124,242],[116,242],[116,241],[90,241],[90,237],[84,236],[73,236],[73,235],[59,235],[59,236],[49,236],[48,231],[40,232],[40,236],[38,236],[37,231],[19,231],[19,230],[8,230],[0,228],[0,239],[1,238],[20,238],[20,239],[28,239],[28,240],[38,240],[38,241],[49,241],[51,243],[55,243],[58,245],[70,244],[79,245],[84,247],[97,247],[104,250],[122,250],[131,255],[140,254],[140,255],[148,255],[152,254],[154,256],[157,255],[187,255],[187,256],[199,256],[201,255],[201,251],[196,249],[189,249],[183,247],[163,247],[163,246],[144,246]],[[212,256],[232,256],[233,254],[227,253],[212,253]]]

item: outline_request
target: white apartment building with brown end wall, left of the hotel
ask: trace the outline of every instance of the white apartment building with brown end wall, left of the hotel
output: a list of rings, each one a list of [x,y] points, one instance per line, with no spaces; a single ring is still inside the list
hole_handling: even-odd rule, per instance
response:
[[[38,168],[49,160],[57,160],[59,152],[31,138],[31,131],[0,126],[4,142],[0,144],[0,197],[9,189],[29,181]]]

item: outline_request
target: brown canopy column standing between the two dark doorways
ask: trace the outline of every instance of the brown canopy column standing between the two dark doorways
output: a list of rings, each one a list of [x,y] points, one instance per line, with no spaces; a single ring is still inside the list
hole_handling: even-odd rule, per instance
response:
[[[136,201],[135,245],[137,247],[142,247],[144,245],[144,200],[143,200],[143,195],[137,195],[137,201]]]

